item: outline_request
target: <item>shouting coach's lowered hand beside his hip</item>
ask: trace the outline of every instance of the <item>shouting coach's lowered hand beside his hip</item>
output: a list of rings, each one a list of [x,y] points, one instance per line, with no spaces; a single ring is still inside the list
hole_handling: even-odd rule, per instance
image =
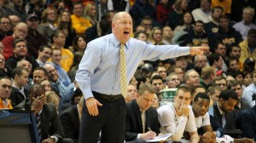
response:
[[[87,100],[85,100],[85,104],[91,116],[97,116],[99,114],[97,106],[102,106],[102,103],[100,103],[94,97],[90,97]]]

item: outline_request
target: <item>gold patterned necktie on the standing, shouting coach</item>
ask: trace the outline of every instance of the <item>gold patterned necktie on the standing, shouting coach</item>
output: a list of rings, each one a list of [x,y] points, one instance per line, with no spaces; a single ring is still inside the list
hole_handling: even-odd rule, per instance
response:
[[[121,94],[127,95],[127,80],[126,80],[126,60],[125,60],[125,43],[120,45],[120,88]]]

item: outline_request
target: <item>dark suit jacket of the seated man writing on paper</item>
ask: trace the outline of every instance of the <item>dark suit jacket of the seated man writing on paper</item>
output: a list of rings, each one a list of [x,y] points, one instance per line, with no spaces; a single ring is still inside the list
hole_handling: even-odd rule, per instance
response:
[[[156,109],[150,107],[146,112],[145,132],[148,132],[148,127],[156,134],[160,133],[160,124]],[[137,140],[137,134],[143,133],[143,123],[137,100],[132,100],[126,104],[126,119],[125,119],[125,140]]]

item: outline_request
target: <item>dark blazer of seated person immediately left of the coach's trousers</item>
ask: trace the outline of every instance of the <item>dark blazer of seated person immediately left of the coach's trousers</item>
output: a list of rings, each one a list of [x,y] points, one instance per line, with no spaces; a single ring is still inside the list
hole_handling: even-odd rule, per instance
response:
[[[60,115],[61,125],[66,138],[79,142],[80,121],[77,105],[69,106]]]

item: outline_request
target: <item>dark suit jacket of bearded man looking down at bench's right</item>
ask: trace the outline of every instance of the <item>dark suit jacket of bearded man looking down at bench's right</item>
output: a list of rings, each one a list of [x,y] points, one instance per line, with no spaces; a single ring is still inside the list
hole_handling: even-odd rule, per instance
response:
[[[222,126],[222,116],[220,115],[220,112],[218,111],[217,102],[215,102],[213,104],[213,117]],[[236,112],[234,112],[234,111],[225,113],[226,124],[225,124],[224,129],[236,129],[236,126],[235,126],[236,117],[237,117],[237,115],[236,115]]]

